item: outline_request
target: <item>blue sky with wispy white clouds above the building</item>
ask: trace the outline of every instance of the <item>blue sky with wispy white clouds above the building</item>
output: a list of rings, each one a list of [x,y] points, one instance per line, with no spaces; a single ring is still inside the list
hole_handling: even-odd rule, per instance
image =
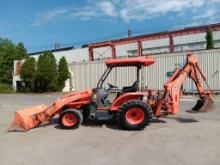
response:
[[[220,0],[0,0],[0,37],[28,52],[220,22]]]

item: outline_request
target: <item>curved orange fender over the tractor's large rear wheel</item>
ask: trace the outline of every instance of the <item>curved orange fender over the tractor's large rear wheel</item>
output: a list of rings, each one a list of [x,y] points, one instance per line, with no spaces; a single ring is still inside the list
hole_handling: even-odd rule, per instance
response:
[[[131,93],[123,94],[119,96],[116,100],[114,100],[110,111],[117,111],[124,102],[141,99],[144,96],[144,94],[145,93],[142,92],[131,92]]]

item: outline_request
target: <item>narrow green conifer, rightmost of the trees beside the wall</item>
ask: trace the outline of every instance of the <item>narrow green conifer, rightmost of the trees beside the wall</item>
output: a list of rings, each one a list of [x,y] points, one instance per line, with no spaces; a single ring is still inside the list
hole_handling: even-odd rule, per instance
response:
[[[62,57],[58,64],[58,87],[61,91],[65,87],[65,81],[69,77],[68,66],[65,57]]]

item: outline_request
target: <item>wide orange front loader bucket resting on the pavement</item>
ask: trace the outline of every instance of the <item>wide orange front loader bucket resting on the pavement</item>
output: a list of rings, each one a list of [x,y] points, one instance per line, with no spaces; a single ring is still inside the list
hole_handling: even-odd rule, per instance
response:
[[[39,116],[37,116],[37,114],[45,111],[47,108],[48,106],[42,104],[24,110],[16,111],[13,123],[8,131],[23,132],[38,126],[39,122],[37,118]]]

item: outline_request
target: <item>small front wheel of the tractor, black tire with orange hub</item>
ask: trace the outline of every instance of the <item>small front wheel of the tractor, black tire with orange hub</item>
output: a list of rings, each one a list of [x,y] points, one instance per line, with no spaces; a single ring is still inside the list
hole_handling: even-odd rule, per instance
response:
[[[73,118],[72,121],[71,119],[70,121],[66,121],[66,118],[68,118],[67,116],[70,116],[71,118]],[[66,109],[63,112],[61,112],[58,121],[59,121],[61,128],[63,129],[75,129],[75,128],[78,128],[79,125],[82,123],[83,115],[80,110]]]

